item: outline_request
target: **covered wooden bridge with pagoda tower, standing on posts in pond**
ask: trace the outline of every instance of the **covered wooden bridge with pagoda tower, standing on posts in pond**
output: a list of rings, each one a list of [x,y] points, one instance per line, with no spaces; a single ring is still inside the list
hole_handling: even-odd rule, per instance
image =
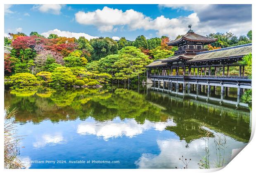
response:
[[[190,87],[197,90],[201,86],[207,87],[208,92],[211,92],[211,86],[213,89],[220,86],[221,96],[225,88],[237,88],[239,104],[243,89],[251,89],[251,78],[245,75],[244,66],[239,61],[251,53],[252,45],[244,44],[211,51],[203,49],[204,44],[215,41],[216,39],[198,36],[190,29],[183,37],[168,43],[170,46],[178,46],[174,56],[156,60],[146,66],[147,83],[152,83],[155,87],[157,82],[158,88],[163,84],[163,89],[167,86],[170,91],[173,88],[178,90],[179,84],[188,90]],[[230,75],[230,67],[233,66],[239,67],[239,74]]]

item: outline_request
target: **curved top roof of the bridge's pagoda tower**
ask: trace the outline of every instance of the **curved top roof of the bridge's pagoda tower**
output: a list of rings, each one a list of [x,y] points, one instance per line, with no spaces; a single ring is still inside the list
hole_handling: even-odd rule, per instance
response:
[[[168,42],[168,46],[178,46],[180,42],[184,42],[184,40],[191,41],[191,42],[203,42],[206,44],[216,42],[218,38],[210,38],[205,37],[199,34],[196,34],[194,32],[188,32],[187,34],[183,35],[180,38],[177,38],[175,40],[172,40],[171,42]]]

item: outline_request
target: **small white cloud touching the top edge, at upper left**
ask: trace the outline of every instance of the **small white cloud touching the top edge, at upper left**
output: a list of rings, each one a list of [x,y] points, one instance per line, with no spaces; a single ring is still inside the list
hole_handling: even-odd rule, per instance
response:
[[[59,15],[61,9],[64,5],[59,4],[43,4],[43,5],[34,5],[32,9],[39,10],[42,13],[51,13]]]

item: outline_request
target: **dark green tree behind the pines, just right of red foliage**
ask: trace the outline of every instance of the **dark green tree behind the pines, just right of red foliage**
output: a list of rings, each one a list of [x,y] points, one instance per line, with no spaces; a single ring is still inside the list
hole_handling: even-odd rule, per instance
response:
[[[92,60],[99,60],[110,54],[117,54],[118,44],[113,39],[106,37],[94,38],[90,40],[92,45]]]

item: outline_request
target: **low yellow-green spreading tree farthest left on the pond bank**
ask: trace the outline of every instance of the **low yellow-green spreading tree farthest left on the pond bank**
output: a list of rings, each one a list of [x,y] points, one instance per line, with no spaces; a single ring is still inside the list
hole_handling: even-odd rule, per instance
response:
[[[19,85],[19,86],[32,86],[32,85],[39,84],[37,78],[28,72],[17,73],[15,75],[12,75],[10,77],[10,80],[14,85]]]

